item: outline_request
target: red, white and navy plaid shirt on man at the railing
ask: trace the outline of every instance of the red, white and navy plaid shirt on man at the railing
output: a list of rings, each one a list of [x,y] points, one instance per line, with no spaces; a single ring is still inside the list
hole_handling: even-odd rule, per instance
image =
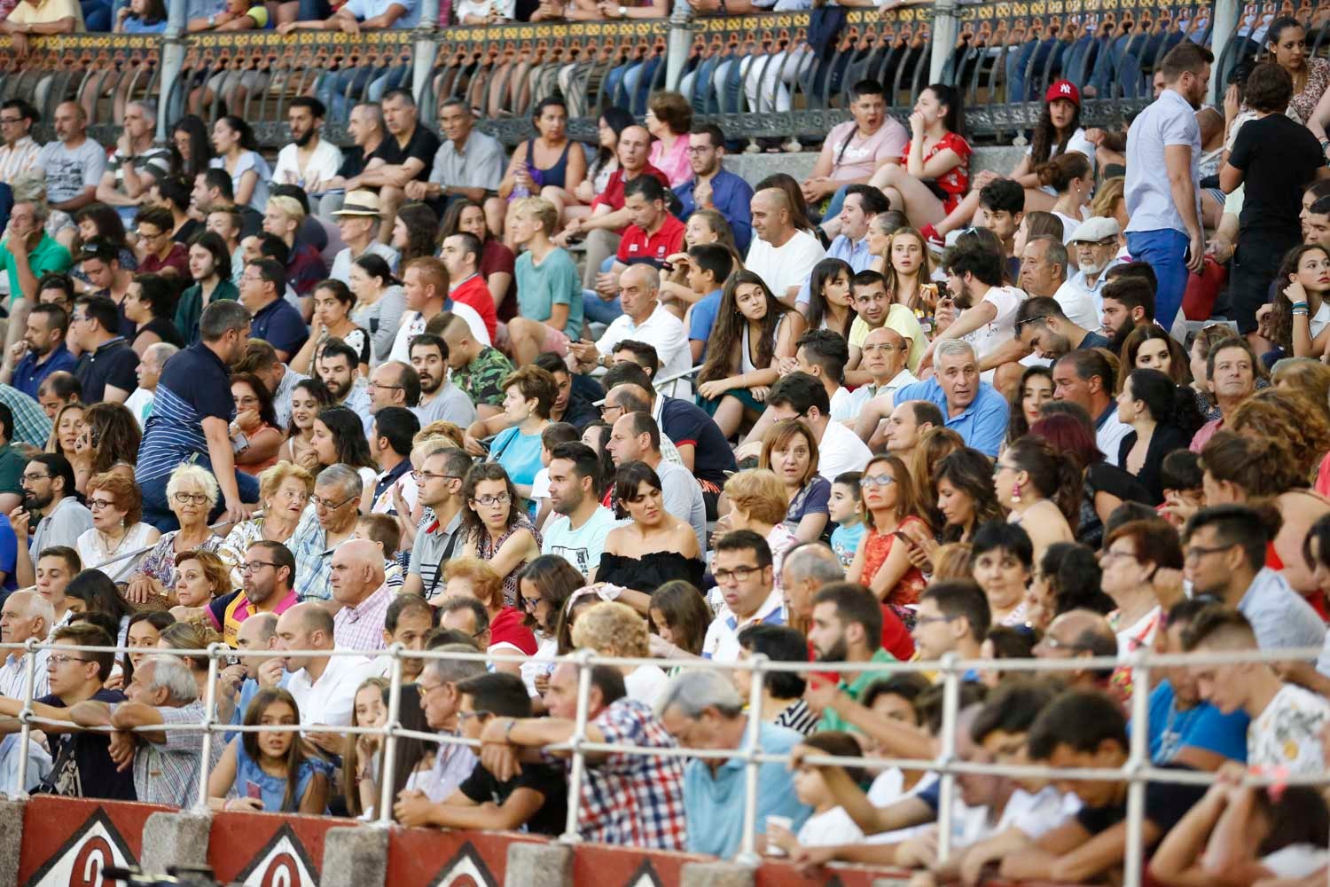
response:
[[[638,699],[618,699],[593,723],[608,743],[648,749],[678,745],[652,707]],[[577,834],[583,840],[605,844],[684,850],[684,761],[616,753],[589,765],[581,785]]]

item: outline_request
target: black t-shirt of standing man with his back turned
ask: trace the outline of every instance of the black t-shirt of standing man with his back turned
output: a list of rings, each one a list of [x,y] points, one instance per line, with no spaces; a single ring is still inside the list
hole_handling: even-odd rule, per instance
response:
[[[1283,114],[1250,120],[1233,140],[1229,164],[1245,173],[1238,217],[1244,237],[1262,231],[1279,243],[1299,242],[1302,190],[1326,164],[1311,130]]]

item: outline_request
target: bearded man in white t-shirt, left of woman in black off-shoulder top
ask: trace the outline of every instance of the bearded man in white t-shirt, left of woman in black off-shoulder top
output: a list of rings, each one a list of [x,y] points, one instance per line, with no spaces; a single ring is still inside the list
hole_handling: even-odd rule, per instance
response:
[[[600,459],[580,442],[561,443],[549,451],[549,507],[541,555],[559,555],[583,576],[600,567],[605,537],[618,525],[614,513],[600,504]]]

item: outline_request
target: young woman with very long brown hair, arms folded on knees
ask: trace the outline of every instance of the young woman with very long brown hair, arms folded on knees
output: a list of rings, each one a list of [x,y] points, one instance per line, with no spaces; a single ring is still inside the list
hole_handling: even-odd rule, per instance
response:
[[[803,317],[786,307],[753,271],[739,270],[725,282],[706,362],[697,375],[702,408],[725,438],[738,434],[745,418],[762,412],[766,391],[793,358]]]

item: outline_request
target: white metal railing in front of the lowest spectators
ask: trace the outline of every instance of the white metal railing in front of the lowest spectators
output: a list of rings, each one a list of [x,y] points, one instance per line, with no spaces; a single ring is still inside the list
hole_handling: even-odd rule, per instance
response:
[[[66,644],[39,644],[36,638],[29,640],[25,644],[0,644],[0,656],[8,657],[13,652],[24,652],[27,656],[27,668],[24,677],[24,706],[17,717],[21,725],[21,749],[19,766],[16,773],[17,785],[13,787],[11,797],[27,797],[25,785],[28,775],[28,754],[27,743],[31,738],[31,733],[35,726],[40,727],[43,725],[66,723],[63,721],[48,721],[36,715],[32,709],[33,702],[33,689],[36,685],[36,652],[39,650],[73,650],[73,652],[86,652],[86,653],[106,653],[116,652],[122,654],[130,653],[144,653],[144,648],[128,648],[128,646],[77,646]],[[201,766],[200,766],[200,785],[198,785],[198,799],[196,802],[196,811],[207,810],[207,779],[209,779],[209,759],[211,754],[211,742],[214,733],[261,733],[261,731],[290,731],[290,726],[282,725],[231,725],[219,723],[215,721],[215,705],[217,705],[217,678],[218,678],[218,661],[222,657],[231,658],[258,658],[270,660],[275,656],[299,656],[299,657],[331,657],[331,656],[351,656],[358,658],[367,658],[362,650],[234,650],[222,644],[213,644],[206,650],[161,650],[162,654],[181,656],[181,657],[207,657],[207,686],[203,696],[203,709],[205,715],[200,723],[174,723],[174,725],[153,725],[149,727],[142,727],[142,731],[161,733],[166,730],[197,730],[202,731],[203,742],[201,749]],[[1149,735],[1149,672],[1152,668],[1158,666],[1178,666],[1178,665],[1206,665],[1206,664],[1234,664],[1234,662],[1279,662],[1279,661],[1311,661],[1315,660],[1321,653],[1317,648],[1310,649],[1285,649],[1285,650],[1252,650],[1252,652],[1225,652],[1225,653],[1178,653],[1178,654],[1157,654],[1148,648],[1136,650],[1125,661],[1116,657],[1099,657],[1099,658],[1067,658],[1067,660],[963,660],[955,653],[948,653],[940,661],[914,661],[914,662],[773,662],[765,656],[755,656],[742,664],[721,664],[713,662],[710,660],[668,660],[666,664],[670,666],[678,666],[684,669],[709,669],[709,670],[734,670],[745,669],[751,672],[751,690],[750,699],[759,699],[762,697],[762,685],[766,674],[773,672],[826,672],[829,668],[837,670],[841,674],[857,674],[861,672],[892,672],[892,673],[938,673],[942,676],[943,681],[943,715],[942,727],[938,735],[938,755],[931,759],[926,758],[870,758],[870,757],[835,757],[835,755],[807,755],[806,762],[814,765],[846,765],[846,766],[862,766],[870,770],[883,770],[887,767],[899,767],[902,770],[926,770],[934,771],[940,775],[942,791],[939,795],[938,807],[938,858],[939,860],[946,860],[951,855],[951,823],[954,818],[954,805],[955,805],[955,778],[958,774],[986,774],[986,775],[1003,775],[1003,777],[1025,777],[1025,778],[1059,778],[1069,781],[1093,779],[1093,781],[1119,781],[1128,783],[1128,805],[1127,805],[1127,852],[1124,856],[1124,880],[1127,887],[1138,887],[1141,884],[1141,867],[1144,860],[1144,843],[1141,827],[1144,823],[1145,814],[1145,783],[1158,782],[1158,783],[1172,783],[1172,785],[1210,785],[1214,781],[1214,774],[1202,771],[1185,771],[1185,770],[1170,770],[1150,766],[1148,757],[1148,735]],[[443,653],[439,650],[428,652],[412,652],[404,649],[400,644],[395,644],[391,648],[382,650],[378,656],[391,657],[391,677],[390,677],[390,692],[388,692],[388,715],[383,726],[379,727],[335,727],[334,731],[344,733],[348,735],[364,735],[372,734],[379,735],[383,739],[383,766],[380,767],[380,778],[383,785],[379,793],[379,809],[376,810],[375,823],[378,826],[387,826],[392,822],[392,775],[396,765],[396,741],[399,738],[415,738],[426,742],[435,742],[439,745],[467,745],[477,747],[480,743],[475,739],[467,739],[459,735],[450,734],[436,734],[436,733],[423,733],[416,730],[407,730],[400,726],[400,690],[402,690],[402,677],[403,677],[403,661],[407,658],[423,660],[426,664],[434,660],[452,660],[452,661],[472,661],[472,662],[516,662],[521,664],[529,660],[525,656],[515,654],[487,654],[487,653]],[[370,657],[372,658],[372,657]],[[567,843],[575,843],[579,840],[577,823],[580,818],[580,805],[581,805],[581,783],[585,779],[585,755],[588,753],[618,753],[618,754],[637,754],[648,757],[676,757],[676,758],[700,758],[700,759],[742,759],[746,767],[746,786],[745,786],[745,802],[743,802],[743,838],[741,844],[741,851],[737,860],[745,864],[757,864],[759,856],[755,851],[755,831],[757,831],[757,777],[758,767],[763,763],[787,763],[790,755],[787,754],[766,754],[761,750],[761,742],[758,737],[758,727],[761,719],[758,717],[749,715],[746,725],[746,739],[745,746],[741,749],[684,749],[684,747],[641,747],[624,743],[605,743],[605,742],[588,742],[587,741],[587,725],[591,721],[589,717],[589,698],[591,698],[591,666],[595,665],[610,665],[621,668],[636,668],[640,665],[660,665],[662,660],[653,658],[612,658],[595,656],[589,650],[581,650],[573,653],[561,660],[556,660],[552,664],[560,661],[575,664],[579,670],[577,682],[577,714],[575,721],[573,735],[565,743],[547,746],[548,750],[553,751],[567,751],[571,754],[571,773],[568,785],[568,818],[565,822],[565,831],[560,840]],[[1000,668],[1004,673],[1011,672],[1027,672],[1027,673],[1048,673],[1048,672],[1065,672],[1065,670],[1083,670],[1083,669],[1112,669],[1120,665],[1129,665],[1132,668],[1132,682],[1136,692],[1132,694],[1130,706],[1130,739],[1128,757],[1125,763],[1117,769],[1056,769],[1044,765],[1004,765],[1004,763],[972,763],[956,759],[956,719],[959,714],[960,703],[960,684],[964,676],[976,669],[992,669]],[[302,727],[311,730],[318,725],[303,725]],[[102,731],[112,731],[110,727],[101,729]],[[1266,785],[1325,785],[1330,782],[1330,774],[1306,774],[1306,775],[1278,775],[1278,777],[1261,777],[1249,775],[1248,782],[1254,786]]]

